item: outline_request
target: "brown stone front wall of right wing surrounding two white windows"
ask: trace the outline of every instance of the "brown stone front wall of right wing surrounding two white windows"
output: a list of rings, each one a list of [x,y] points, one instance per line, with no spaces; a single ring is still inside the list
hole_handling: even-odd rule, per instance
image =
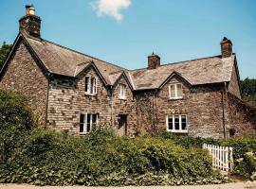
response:
[[[176,82],[182,83],[183,98],[169,99],[169,84]],[[217,85],[191,87],[179,78],[173,78],[160,91],[148,93],[148,107],[151,107],[148,112],[152,114],[138,112],[138,123],[144,124],[147,130],[166,129],[168,114],[186,114],[188,135],[222,138],[224,129],[221,89]]]

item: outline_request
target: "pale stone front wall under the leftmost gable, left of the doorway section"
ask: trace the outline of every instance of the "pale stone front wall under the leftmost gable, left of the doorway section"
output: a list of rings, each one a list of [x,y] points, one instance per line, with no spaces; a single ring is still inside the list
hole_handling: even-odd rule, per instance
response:
[[[85,94],[85,75],[97,78],[97,94]],[[110,96],[91,67],[78,80],[55,77],[50,81],[47,126],[79,134],[80,114],[98,113],[99,123],[111,125]]]

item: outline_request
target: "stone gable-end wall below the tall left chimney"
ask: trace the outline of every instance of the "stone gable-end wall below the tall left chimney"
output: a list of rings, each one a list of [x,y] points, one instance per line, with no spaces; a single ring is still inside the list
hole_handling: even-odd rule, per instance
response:
[[[36,119],[45,126],[48,81],[24,43],[18,44],[3,74],[0,88],[26,94]]]

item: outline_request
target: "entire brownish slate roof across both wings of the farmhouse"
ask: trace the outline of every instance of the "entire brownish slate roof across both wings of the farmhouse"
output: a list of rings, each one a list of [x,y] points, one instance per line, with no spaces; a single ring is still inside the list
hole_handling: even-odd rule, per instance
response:
[[[52,74],[76,77],[93,62],[107,84],[113,85],[124,72],[135,90],[159,88],[172,73],[178,73],[192,85],[230,81],[235,61],[233,54],[225,59],[215,56],[163,64],[156,69],[126,70],[56,43],[23,37]]]

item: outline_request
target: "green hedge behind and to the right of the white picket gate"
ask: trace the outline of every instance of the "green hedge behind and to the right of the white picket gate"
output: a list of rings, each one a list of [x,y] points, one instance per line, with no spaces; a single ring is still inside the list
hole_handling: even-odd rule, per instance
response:
[[[256,134],[232,137],[229,139],[204,139],[186,135],[175,135],[171,132],[161,130],[152,133],[155,137],[173,140],[176,145],[185,148],[201,148],[203,144],[233,147],[234,167],[232,175],[244,179],[256,180]],[[249,155],[248,155],[249,154]]]

